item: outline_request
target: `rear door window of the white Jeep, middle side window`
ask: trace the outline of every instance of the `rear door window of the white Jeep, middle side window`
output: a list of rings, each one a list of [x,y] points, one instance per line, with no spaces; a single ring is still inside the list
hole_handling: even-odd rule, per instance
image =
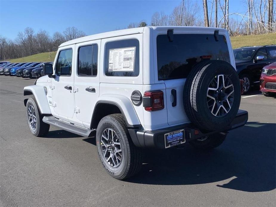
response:
[[[97,76],[98,45],[88,45],[78,49],[78,75]]]

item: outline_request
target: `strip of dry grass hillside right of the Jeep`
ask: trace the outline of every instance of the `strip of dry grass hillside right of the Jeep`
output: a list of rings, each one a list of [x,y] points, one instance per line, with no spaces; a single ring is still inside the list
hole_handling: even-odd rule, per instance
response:
[[[269,45],[276,44],[276,33],[235,36],[230,39],[233,49],[245,46]]]

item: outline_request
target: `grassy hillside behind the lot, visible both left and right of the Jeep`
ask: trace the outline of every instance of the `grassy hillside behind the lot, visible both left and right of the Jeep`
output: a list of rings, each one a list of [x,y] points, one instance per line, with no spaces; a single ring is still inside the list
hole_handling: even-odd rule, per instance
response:
[[[257,46],[276,44],[276,33],[263,35],[243,35],[231,37],[233,49],[244,46]],[[44,52],[36,55],[30,55],[24,58],[16,58],[9,60],[12,63],[16,62],[52,62],[55,59],[56,52]]]

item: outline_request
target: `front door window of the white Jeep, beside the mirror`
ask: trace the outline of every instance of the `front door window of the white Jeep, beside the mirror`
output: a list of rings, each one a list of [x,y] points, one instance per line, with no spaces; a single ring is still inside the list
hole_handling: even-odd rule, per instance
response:
[[[61,76],[71,76],[73,50],[61,50],[58,54],[58,61],[55,66],[55,74]]]

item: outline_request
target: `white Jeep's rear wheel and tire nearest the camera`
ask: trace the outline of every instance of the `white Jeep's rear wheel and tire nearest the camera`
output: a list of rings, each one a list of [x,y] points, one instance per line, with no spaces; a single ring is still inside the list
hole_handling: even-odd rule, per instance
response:
[[[111,114],[101,119],[96,143],[101,163],[110,176],[124,180],[139,172],[142,165],[141,149],[133,144],[121,114]]]

